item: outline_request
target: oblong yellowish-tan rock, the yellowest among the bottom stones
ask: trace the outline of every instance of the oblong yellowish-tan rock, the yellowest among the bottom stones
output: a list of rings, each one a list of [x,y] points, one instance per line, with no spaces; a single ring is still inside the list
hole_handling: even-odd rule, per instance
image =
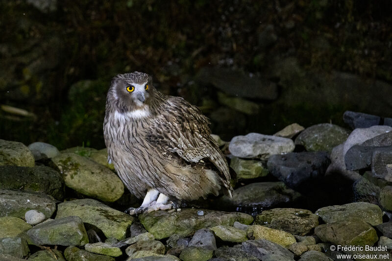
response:
[[[295,237],[290,233],[260,225],[250,226],[247,235],[252,235],[254,239],[267,239],[284,247],[296,242]]]

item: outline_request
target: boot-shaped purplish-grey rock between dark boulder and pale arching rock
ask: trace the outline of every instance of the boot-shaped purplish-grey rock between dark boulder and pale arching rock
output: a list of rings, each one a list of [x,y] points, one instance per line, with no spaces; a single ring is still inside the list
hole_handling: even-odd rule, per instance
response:
[[[344,162],[344,143],[334,147],[331,152],[331,164],[328,166],[325,176],[338,176],[347,181],[358,181],[362,176],[357,171],[348,170]],[[334,179],[334,178],[333,178]]]

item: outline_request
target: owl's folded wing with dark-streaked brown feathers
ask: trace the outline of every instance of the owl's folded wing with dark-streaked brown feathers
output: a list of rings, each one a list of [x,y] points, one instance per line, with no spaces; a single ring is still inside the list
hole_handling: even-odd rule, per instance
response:
[[[168,96],[162,114],[152,119],[147,141],[166,149],[189,163],[208,159],[221,172],[224,181],[230,180],[227,162],[212,139],[208,118],[181,97]]]

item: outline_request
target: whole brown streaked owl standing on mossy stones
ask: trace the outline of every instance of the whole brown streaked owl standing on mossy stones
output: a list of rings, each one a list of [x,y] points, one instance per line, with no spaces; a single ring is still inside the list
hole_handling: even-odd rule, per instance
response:
[[[143,211],[170,209],[170,198],[231,196],[227,162],[209,120],[181,97],[155,90],[143,72],[118,74],[106,99],[103,132],[109,161]]]

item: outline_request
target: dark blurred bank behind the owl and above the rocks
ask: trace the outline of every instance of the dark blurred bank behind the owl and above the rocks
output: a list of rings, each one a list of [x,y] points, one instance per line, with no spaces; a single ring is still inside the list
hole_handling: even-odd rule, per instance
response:
[[[225,140],[392,117],[391,0],[3,0],[0,14],[0,139],[103,148],[110,79],[129,71]]]

